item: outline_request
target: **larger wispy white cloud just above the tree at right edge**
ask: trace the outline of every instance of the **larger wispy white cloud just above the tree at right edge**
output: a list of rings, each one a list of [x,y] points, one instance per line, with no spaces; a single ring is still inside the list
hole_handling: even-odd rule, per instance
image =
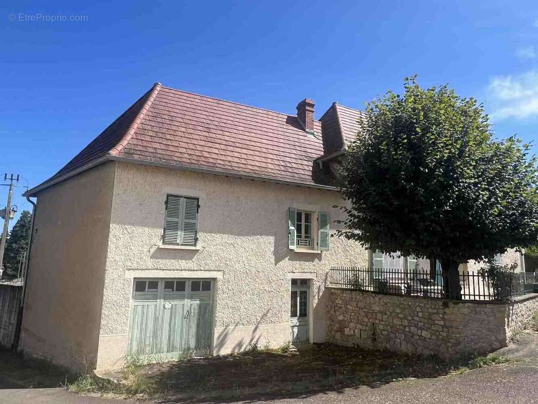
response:
[[[538,116],[538,71],[494,77],[487,94],[493,121]]]

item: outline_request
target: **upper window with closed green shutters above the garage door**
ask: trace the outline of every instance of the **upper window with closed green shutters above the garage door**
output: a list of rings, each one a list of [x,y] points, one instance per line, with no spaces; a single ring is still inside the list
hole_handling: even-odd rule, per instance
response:
[[[164,244],[196,246],[199,206],[198,198],[166,196]]]

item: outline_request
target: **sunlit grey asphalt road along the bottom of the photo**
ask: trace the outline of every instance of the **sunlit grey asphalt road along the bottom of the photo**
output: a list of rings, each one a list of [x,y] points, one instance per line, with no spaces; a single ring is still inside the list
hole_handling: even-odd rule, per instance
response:
[[[249,400],[271,404],[538,404],[538,333],[525,333],[518,344],[498,352],[519,361],[435,379],[392,382],[379,387],[348,388],[286,399]],[[0,382],[0,386],[2,386]],[[94,404],[115,400],[79,396],[59,388],[17,389],[4,385],[0,403]],[[121,400],[121,403],[140,401]],[[173,399],[159,401],[174,402]],[[221,401],[223,402],[223,401]],[[231,403],[231,401],[228,401]]]

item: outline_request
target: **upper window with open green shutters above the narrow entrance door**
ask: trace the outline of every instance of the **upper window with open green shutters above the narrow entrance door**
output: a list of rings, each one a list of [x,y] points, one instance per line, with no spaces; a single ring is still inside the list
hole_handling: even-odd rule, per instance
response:
[[[329,214],[288,208],[288,245],[294,250],[329,249]]]

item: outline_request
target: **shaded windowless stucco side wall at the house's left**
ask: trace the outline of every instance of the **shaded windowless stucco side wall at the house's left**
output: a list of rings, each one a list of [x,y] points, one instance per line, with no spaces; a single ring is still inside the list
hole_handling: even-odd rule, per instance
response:
[[[19,347],[77,371],[97,360],[115,165],[38,195]]]

